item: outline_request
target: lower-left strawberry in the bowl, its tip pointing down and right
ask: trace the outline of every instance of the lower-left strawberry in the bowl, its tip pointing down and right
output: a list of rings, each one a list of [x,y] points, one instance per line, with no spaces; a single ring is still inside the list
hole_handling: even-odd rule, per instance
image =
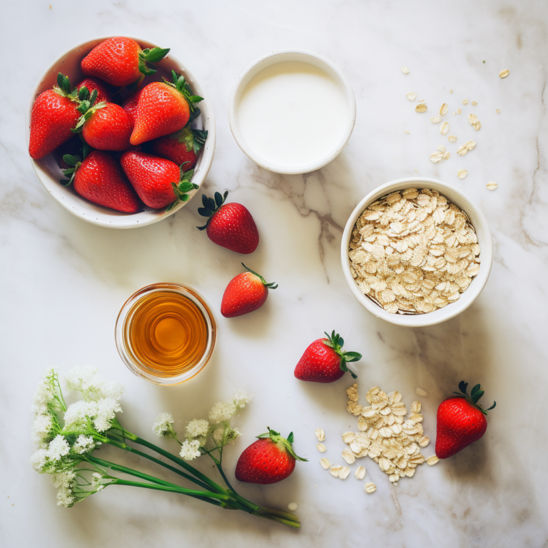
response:
[[[61,181],[64,186],[73,182],[74,190],[80,196],[116,211],[135,213],[138,210],[137,196],[110,154],[93,151],[83,161],[79,156],[70,154],[63,159],[68,166],[72,166],[63,170],[66,176],[71,176],[69,181]]]

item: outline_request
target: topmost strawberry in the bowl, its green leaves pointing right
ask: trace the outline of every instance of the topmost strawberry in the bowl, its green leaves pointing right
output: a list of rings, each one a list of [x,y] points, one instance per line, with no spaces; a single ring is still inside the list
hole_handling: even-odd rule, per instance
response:
[[[157,63],[168,54],[169,49],[141,49],[135,40],[118,36],[109,38],[95,46],[81,62],[87,76],[96,76],[113,86],[130,86],[156,69]]]

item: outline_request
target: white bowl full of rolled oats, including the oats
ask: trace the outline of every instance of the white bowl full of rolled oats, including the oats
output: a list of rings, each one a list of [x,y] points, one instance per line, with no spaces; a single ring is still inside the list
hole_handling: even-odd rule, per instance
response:
[[[483,213],[457,188],[399,179],[352,211],[341,261],[363,308],[420,328],[454,318],[476,300],[491,272],[493,243]]]

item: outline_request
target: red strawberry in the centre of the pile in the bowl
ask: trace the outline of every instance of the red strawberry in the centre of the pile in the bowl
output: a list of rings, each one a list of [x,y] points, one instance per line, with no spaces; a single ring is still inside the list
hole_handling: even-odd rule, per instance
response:
[[[126,151],[131,148],[131,120],[121,106],[99,103],[92,106],[83,118],[82,135],[93,148],[100,151]]]

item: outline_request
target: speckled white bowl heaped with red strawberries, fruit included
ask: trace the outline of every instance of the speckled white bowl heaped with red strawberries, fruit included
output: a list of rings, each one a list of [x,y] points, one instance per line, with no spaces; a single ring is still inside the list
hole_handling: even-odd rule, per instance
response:
[[[196,194],[213,162],[215,117],[201,83],[169,49],[107,36],[46,70],[26,141],[36,176],[66,210],[135,228]]]

